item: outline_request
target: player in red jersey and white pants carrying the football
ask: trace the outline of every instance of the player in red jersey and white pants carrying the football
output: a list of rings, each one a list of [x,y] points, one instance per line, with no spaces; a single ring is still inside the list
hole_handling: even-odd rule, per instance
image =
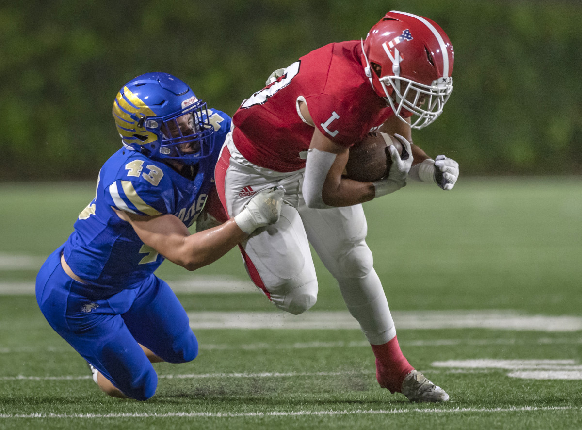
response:
[[[452,91],[453,47],[430,19],[391,11],[363,41],[332,43],[304,55],[245,100],[233,117],[215,169],[232,216],[249,196],[283,186],[281,218],[243,242],[255,285],[284,311],[299,314],[317,299],[310,244],[338,281],[350,313],[376,357],[382,387],[411,401],[448,394],[404,358],[365,237],[361,203],[398,191],[407,179],[450,190],[458,164],[431,159],[411,143],[442,112]],[[375,182],[342,178],[350,146],[372,129],[396,135],[389,175]]]

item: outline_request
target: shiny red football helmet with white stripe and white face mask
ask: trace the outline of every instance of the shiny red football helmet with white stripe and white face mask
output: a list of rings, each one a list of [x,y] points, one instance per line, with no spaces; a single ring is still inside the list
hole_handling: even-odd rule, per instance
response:
[[[362,42],[372,87],[395,115],[420,129],[438,118],[453,90],[453,45],[437,23],[391,10]]]

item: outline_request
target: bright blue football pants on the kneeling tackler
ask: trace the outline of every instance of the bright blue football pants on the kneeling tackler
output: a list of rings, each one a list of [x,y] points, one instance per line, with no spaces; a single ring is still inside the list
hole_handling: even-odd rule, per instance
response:
[[[51,327],[123,394],[147,400],[157,387],[139,344],[171,363],[196,358],[198,342],[186,311],[165,281],[151,275],[139,288],[92,299],[86,285],[63,271],[60,251],[38,273],[38,305]]]

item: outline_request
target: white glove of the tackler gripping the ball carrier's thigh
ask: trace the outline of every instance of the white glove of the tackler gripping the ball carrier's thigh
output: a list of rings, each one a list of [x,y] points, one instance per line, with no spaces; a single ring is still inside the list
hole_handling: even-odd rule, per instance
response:
[[[256,193],[244,209],[235,217],[240,230],[251,234],[259,227],[274,224],[279,221],[281,215],[281,200],[285,194],[285,188],[278,186],[268,188]]]

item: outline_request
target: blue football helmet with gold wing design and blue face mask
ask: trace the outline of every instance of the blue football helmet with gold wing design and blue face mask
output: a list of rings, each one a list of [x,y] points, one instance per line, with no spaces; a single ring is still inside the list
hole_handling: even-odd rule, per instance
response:
[[[214,149],[206,103],[168,73],[127,82],[113,102],[113,118],[123,145],[152,159],[194,165]]]

